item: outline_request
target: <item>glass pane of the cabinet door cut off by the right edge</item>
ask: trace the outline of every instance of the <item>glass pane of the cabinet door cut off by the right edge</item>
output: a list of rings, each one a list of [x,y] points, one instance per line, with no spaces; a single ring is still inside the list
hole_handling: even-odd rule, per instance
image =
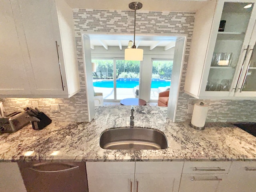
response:
[[[252,50],[246,76],[242,84],[242,92],[244,91],[256,91],[256,45]]]

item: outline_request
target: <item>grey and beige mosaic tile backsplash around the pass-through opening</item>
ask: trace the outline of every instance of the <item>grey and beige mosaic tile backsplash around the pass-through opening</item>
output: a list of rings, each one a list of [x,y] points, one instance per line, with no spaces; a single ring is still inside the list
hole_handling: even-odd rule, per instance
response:
[[[76,50],[80,74],[81,91],[69,99],[2,98],[6,112],[22,110],[37,101],[39,108],[52,120],[87,121],[86,78],[82,51],[82,34],[133,34],[134,11],[73,9]],[[136,34],[186,36],[187,44],[183,61],[182,79],[176,121],[189,121],[188,105],[205,102],[209,111],[207,122],[255,122],[256,101],[253,100],[197,100],[184,93],[188,56],[194,28],[193,12],[148,12],[136,13]],[[60,112],[51,112],[50,105],[59,104]]]

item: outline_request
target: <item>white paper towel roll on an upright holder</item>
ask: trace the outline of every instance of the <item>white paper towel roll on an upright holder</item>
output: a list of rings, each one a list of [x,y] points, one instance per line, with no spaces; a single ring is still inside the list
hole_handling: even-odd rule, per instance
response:
[[[202,103],[202,102],[201,102]],[[200,103],[194,104],[194,110],[192,114],[191,124],[198,128],[203,128],[208,112],[208,105],[200,105]]]

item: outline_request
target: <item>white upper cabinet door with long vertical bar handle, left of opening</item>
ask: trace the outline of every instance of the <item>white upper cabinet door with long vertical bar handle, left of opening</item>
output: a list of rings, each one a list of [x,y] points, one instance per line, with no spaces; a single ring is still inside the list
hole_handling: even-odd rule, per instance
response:
[[[23,24],[30,56],[28,77],[32,94],[67,94],[55,2],[52,0],[19,0],[18,3],[20,21]]]

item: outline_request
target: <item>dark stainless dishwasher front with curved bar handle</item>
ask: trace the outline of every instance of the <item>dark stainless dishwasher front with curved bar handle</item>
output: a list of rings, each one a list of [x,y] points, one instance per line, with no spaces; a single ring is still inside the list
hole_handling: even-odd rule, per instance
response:
[[[18,162],[28,192],[88,192],[85,162]]]

